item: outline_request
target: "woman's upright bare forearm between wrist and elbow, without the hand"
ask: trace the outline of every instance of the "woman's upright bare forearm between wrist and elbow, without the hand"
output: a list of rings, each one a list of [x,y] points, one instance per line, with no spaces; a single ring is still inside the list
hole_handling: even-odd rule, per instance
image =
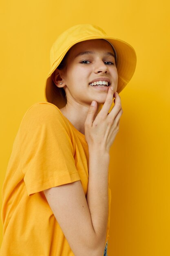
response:
[[[89,147],[89,177],[86,200],[91,213],[97,246],[104,248],[108,224],[108,166],[110,155]]]

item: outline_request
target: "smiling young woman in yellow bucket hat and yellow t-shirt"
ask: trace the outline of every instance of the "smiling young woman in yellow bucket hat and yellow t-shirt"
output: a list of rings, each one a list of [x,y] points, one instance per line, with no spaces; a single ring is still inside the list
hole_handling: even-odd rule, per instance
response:
[[[46,102],[25,113],[9,159],[1,256],[107,255],[109,151],[135,67],[134,49],[95,25],[57,38]]]

